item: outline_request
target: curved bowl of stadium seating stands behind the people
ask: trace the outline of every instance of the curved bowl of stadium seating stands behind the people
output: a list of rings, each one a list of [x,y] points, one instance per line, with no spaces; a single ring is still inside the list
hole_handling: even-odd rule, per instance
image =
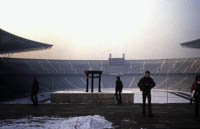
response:
[[[112,60],[111,64],[109,60]],[[115,61],[116,64],[113,63]],[[200,73],[200,58],[124,60],[121,64],[117,62],[118,58],[96,61],[1,58],[1,98],[6,100],[9,97],[30,96],[34,75],[41,84],[41,94],[58,90],[84,89],[85,70],[103,71],[101,83],[104,90],[114,90],[117,75],[122,77],[124,88],[138,89],[139,79],[144,76],[146,70],[149,70],[156,82],[155,90],[184,98],[185,101],[182,100],[180,103],[189,102],[187,100],[190,98],[192,83],[195,76]],[[159,98],[159,95],[153,96]],[[167,96],[163,99],[161,102],[166,102]]]

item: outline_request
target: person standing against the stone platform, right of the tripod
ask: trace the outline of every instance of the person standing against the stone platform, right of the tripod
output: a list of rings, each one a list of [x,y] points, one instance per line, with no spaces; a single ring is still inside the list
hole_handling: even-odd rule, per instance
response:
[[[122,103],[121,93],[122,93],[122,89],[123,89],[123,83],[120,80],[120,76],[117,76],[117,80],[115,83],[116,83],[115,96],[116,96],[118,104],[121,104]]]

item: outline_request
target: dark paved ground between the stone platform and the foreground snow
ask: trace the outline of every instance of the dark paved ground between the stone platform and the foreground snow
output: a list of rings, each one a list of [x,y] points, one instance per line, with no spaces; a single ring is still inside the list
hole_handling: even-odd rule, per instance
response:
[[[194,105],[154,104],[154,117],[143,117],[141,104],[1,104],[0,120],[32,116],[101,115],[117,129],[200,129],[200,118],[194,117]]]

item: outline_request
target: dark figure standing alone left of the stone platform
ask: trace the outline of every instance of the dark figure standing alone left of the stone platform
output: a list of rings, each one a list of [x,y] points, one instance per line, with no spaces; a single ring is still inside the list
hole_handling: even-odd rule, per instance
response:
[[[37,99],[38,92],[39,92],[39,83],[38,83],[36,77],[34,77],[31,99],[33,101],[33,104],[36,106],[38,105],[38,99]]]

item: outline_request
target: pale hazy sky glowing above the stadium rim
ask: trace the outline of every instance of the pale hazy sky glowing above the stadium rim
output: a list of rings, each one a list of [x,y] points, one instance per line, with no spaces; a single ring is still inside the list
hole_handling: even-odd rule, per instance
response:
[[[1,0],[0,28],[53,48],[14,54],[48,59],[200,57],[200,0]]]

